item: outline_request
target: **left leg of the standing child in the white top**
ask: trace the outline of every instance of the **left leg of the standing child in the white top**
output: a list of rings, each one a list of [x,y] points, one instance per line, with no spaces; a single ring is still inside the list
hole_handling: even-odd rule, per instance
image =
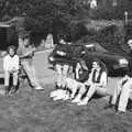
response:
[[[4,87],[6,87],[6,95],[9,94],[9,84],[10,84],[10,73],[9,72],[4,72]]]

